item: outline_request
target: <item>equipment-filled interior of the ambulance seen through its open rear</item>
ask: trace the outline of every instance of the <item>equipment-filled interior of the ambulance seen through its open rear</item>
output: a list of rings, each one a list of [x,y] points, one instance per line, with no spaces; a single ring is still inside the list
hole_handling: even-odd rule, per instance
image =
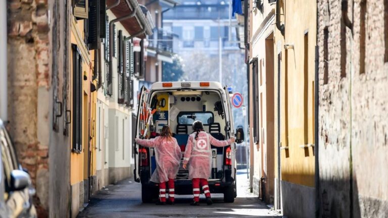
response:
[[[189,134],[193,132],[192,123],[202,121],[204,130],[218,140],[225,140],[226,119],[224,110],[226,104],[217,91],[159,91],[150,96],[151,105],[156,105],[156,113],[153,116],[151,138],[159,135],[164,125],[169,125],[181,148],[182,158]],[[229,138],[229,137],[227,137]],[[151,173],[156,169],[155,153],[150,150]],[[227,158],[229,157],[229,158]],[[212,173],[210,180],[219,180],[224,177],[225,169],[230,169],[230,146],[212,146]],[[188,169],[188,168],[187,168]],[[177,180],[188,179],[188,171],[179,169]]]

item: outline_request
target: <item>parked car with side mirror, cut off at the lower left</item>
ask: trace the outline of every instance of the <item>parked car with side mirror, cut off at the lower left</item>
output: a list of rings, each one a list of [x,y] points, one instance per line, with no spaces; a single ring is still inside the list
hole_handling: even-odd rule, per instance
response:
[[[0,217],[37,217],[35,189],[22,169],[11,138],[0,120]]]

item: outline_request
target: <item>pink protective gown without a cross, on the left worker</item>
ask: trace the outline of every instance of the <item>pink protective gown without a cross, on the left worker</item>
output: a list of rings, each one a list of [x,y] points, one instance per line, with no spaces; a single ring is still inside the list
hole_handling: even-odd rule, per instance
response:
[[[165,137],[154,139],[136,139],[136,143],[144,147],[155,148],[156,170],[151,176],[154,183],[167,182],[175,179],[179,170],[182,154],[175,138],[168,140]]]

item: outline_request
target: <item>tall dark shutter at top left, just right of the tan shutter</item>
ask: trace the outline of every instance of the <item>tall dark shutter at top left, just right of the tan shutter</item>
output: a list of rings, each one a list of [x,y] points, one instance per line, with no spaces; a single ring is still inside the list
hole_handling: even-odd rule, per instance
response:
[[[100,48],[100,3],[89,0],[88,47],[89,50]]]

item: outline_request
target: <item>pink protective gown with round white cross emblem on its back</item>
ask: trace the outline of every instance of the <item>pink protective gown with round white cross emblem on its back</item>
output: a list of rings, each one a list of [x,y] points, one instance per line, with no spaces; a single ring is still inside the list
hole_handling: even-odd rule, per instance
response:
[[[230,139],[219,141],[206,132],[200,132],[196,138],[196,132],[188,136],[183,164],[188,166],[188,178],[209,179],[211,174],[212,149],[210,145],[224,147],[229,145]]]

